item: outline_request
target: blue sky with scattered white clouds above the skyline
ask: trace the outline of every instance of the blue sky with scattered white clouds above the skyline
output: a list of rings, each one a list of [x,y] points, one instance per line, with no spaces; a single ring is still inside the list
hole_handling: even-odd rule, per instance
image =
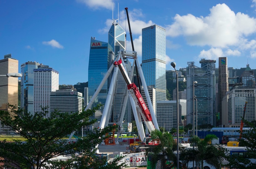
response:
[[[228,67],[256,69],[256,0],[1,0],[0,59],[11,53],[19,71],[27,61],[49,65],[59,84],[87,82],[90,39],[107,42],[113,3],[131,50],[128,7],[140,63],[141,29],[156,24],[166,30],[166,70],[173,61],[179,69],[218,57],[228,57]]]

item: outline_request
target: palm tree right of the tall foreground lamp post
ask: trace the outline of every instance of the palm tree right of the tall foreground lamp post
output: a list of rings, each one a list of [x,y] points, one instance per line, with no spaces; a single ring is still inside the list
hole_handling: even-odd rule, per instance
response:
[[[217,136],[214,134],[208,134],[204,139],[200,139],[197,136],[192,137],[191,143],[194,143],[195,148],[185,148],[181,150],[180,159],[182,162],[196,162],[196,166],[203,169],[204,161],[208,164],[219,168],[222,157],[224,157],[224,152],[219,151],[219,147],[217,145],[208,145],[208,143],[217,139]]]

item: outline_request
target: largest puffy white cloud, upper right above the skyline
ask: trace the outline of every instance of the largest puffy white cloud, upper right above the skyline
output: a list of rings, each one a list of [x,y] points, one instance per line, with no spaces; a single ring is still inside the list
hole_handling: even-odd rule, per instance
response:
[[[189,45],[209,45],[225,48],[240,44],[244,36],[256,32],[256,19],[238,12],[226,4],[217,4],[206,17],[176,14],[175,22],[166,26],[166,36],[184,36]]]

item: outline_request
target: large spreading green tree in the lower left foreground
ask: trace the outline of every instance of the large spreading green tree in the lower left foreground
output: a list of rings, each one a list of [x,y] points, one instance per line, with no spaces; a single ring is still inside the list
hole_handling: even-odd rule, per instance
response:
[[[68,139],[63,139],[68,134],[80,130],[82,126],[91,125],[95,120],[90,120],[90,117],[99,109],[100,105],[93,109],[82,110],[81,113],[60,113],[57,110],[50,113],[49,118],[47,108],[42,108],[42,112],[36,112],[34,115],[22,109],[16,109],[13,105],[11,111],[0,111],[1,124],[17,134],[20,134],[26,140],[21,141],[13,138],[13,143],[7,143],[6,140],[0,142],[0,152],[3,159],[0,162],[5,164],[4,167],[15,166],[23,169],[41,169],[46,167],[46,162],[57,164],[49,160],[59,155],[73,155],[82,153],[81,158],[76,157],[66,162],[65,166],[78,168],[75,162],[84,158],[87,161],[93,159],[93,154],[96,149],[95,146],[104,139],[103,135],[112,131],[114,127],[106,127],[104,129],[95,130],[87,137],[71,142]],[[81,121],[83,119],[83,121]],[[92,161],[92,164],[96,164]],[[54,165],[48,168],[56,168]],[[88,163],[83,163],[83,168],[88,168]],[[62,165],[61,162],[58,164]],[[97,165],[105,165],[98,164]],[[112,165],[115,167],[116,165]]]

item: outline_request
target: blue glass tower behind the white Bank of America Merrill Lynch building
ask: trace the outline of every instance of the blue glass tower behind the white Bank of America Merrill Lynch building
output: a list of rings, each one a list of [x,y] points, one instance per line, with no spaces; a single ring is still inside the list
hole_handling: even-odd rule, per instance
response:
[[[34,71],[40,63],[26,62],[21,64],[21,108],[34,112]]]

